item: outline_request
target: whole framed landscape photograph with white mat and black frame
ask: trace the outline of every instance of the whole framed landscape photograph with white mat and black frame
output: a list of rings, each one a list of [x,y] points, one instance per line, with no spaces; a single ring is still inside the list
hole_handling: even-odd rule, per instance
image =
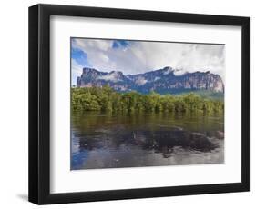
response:
[[[29,7],[29,201],[249,191],[250,20]]]

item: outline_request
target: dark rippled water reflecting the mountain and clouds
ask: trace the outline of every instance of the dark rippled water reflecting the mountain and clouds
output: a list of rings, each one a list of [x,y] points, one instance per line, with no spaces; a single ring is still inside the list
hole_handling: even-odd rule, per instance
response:
[[[224,163],[223,116],[73,113],[71,169]]]

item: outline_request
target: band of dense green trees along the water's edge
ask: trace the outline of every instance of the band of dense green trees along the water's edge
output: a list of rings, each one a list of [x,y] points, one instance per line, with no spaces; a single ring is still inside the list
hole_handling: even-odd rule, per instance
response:
[[[189,93],[186,95],[159,95],[151,92],[118,93],[108,85],[104,87],[72,88],[73,111],[113,112],[171,112],[221,114],[224,103],[220,100],[203,98]]]

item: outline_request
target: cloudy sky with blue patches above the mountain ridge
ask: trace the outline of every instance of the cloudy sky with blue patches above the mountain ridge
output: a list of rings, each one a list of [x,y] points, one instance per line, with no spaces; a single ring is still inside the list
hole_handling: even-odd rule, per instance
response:
[[[98,71],[140,74],[170,66],[186,72],[210,71],[224,80],[225,45],[147,42],[107,39],[71,39],[72,85],[83,67]]]

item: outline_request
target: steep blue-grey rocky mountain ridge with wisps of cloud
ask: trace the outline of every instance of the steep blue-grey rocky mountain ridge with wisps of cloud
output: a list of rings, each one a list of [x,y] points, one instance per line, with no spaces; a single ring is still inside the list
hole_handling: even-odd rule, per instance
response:
[[[224,84],[220,75],[210,71],[179,74],[169,66],[144,74],[124,75],[121,71],[101,72],[85,67],[77,77],[77,87],[109,85],[118,92],[137,91],[148,94],[155,91],[159,94],[176,94],[188,91],[207,90],[224,93]]]

